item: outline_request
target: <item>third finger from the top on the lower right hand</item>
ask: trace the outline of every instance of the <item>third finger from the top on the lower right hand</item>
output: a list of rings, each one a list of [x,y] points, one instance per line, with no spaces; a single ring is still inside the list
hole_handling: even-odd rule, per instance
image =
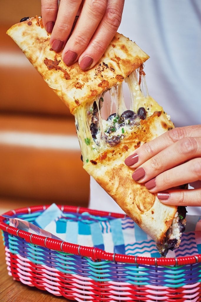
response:
[[[173,169],[165,171],[145,183],[150,192],[159,192],[168,188],[195,182],[201,179],[201,157],[192,159]]]

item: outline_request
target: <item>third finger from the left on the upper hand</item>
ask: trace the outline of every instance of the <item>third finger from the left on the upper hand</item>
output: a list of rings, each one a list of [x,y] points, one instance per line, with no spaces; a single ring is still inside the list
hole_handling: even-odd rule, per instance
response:
[[[67,66],[72,65],[88,46],[107,7],[107,0],[86,0],[76,27],[64,47],[62,58]]]

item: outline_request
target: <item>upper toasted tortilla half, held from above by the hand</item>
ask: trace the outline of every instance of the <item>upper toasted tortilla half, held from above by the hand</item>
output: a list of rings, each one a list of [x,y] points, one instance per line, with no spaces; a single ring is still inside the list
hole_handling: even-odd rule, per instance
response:
[[[149,58],[136,43],[117,33],[99,62],[92,69],[83,71],[77,62],[66,66],[61,52],[52,50],[49,45],[51,35],[43,27],[42,18],[17,23],[7,34],[72,114],[80,104],[92,102],[97,95],[122,82]]]

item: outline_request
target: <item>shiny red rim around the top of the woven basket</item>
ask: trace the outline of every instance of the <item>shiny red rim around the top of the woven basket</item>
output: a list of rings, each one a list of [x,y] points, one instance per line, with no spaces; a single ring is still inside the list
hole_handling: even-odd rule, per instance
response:
[[[92,210],[85,207],[76,207],[76,206],[62,206],[57,205],[60,210],[63,212],[73,212],[73,213],[84,213],[88,212],[92,215],[98,216],[111,216],[116,218],[127,217],[125,214],[111,213],[99,210]],[[10,210],[5,212],[2,215],[13,216],[16,214],[30,214],[40,210],[46,210],[50,205],[43,206],[33,206],[33,207],[24,207],[18,208],[15,210]],[[5,217],[0,216],[0,229],[8,232],[14,236],[18,236],[20,238],[25,239],[28,243],[36,244],[47,249],[53,249],[59,252],[70,253],[74,255],[80,255],[83,257],[90,257],[93,260],[108,260],[114,262],[124,262],[124,263],[134,263],[134,264],[146,264],[146,265],[160,265],[160,266],[179,266],[179,265],[188,265],[201,262],[201,254],[194,256],[186,256],[186,257],[175,257],[175,258],[153,258],[153,257],[141,257],[141,256],[131,256],[131,255],[123,255],[123,254],[115,254],[108,253],[102,249],[89,247],[89,246],[81,246],[78,244],[64,242],[62,240],[52,239],[40,235],[35,235],[23,230],[20,230],[16,227],[9,226],[4,223]]]

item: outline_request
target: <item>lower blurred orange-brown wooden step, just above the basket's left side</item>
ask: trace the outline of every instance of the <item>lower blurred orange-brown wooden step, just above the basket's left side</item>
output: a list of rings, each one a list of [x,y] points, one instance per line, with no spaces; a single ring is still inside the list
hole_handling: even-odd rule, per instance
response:
[[[0,197],[87,204],[80,154],[72,120],[0,116]]]

